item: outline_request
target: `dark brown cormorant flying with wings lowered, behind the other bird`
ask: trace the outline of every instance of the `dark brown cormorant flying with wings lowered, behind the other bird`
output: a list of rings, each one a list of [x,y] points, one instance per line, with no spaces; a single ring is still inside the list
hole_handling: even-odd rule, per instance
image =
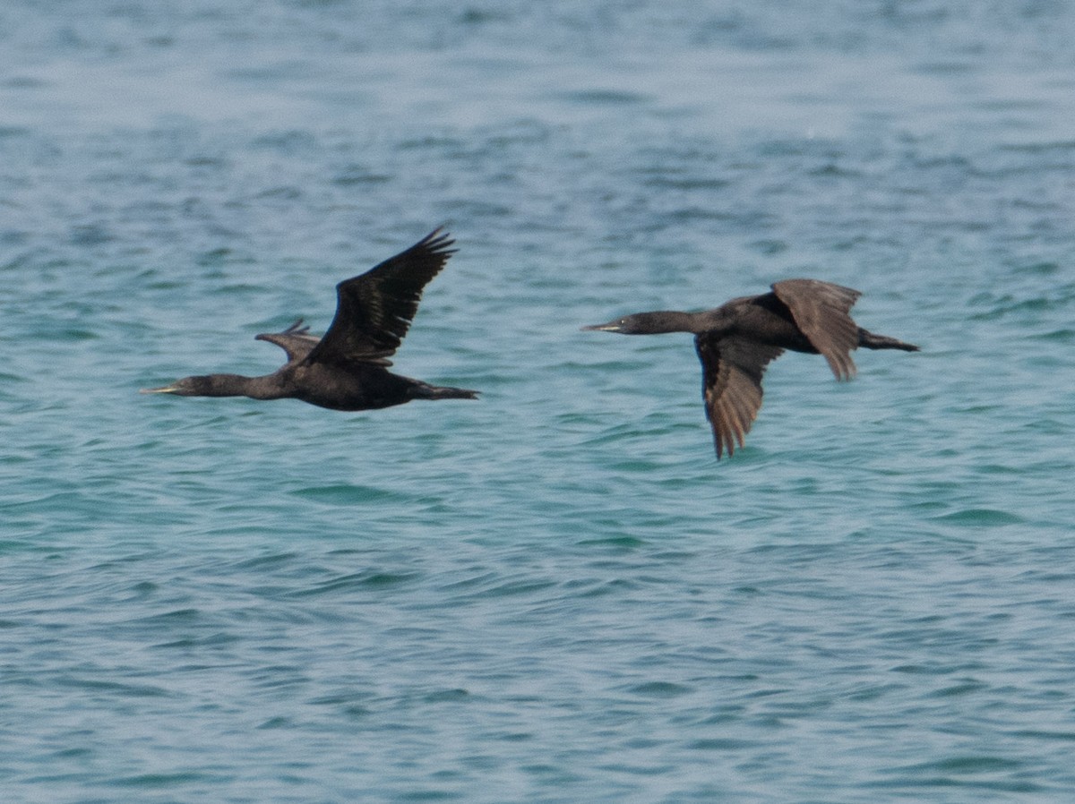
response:
[[[635,313],[586,330],[649,335],[692,332],[702,361],[702,396],[717,458],[734,454],[761,407],[761,377],[785,349],[820,354],[836,379],[855,376],[851,349],[918,347],[875,335],[850,316],[858,290],[818,279],[785,279],[761,296],[744,296],[701,313]]]

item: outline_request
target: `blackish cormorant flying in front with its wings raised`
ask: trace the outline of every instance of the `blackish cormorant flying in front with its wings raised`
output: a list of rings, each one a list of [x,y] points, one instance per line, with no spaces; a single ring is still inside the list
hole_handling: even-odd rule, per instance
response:
[[[309,334],[302,319],[283,332],[256,335],[287,353],[273,374],[184,377],[142,393],[181,397],[299,399],[334,411],[368,411],[413,399],[476,399],[477,391],[446,388],[392,374],[388,359],[418,312],[421,291],[455,254],[440,229],[377,267],[336,285],[336,312],[328,331]]]

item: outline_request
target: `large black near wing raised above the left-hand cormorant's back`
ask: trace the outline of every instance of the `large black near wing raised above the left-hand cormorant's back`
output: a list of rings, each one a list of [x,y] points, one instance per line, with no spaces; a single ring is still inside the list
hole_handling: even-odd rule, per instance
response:
[[[455,241],[435,229],[376,268],[336,285],[336,312],[306,362],[355,360],[391,365],[426,284],[440,273]]]

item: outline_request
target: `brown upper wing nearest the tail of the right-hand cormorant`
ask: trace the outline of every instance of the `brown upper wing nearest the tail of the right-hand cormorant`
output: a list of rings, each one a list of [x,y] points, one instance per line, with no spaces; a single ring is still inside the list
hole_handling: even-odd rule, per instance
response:
[[[817,279],[777,282],[773,292],[788,305],[799,329],[829,361],[836,379],[854,377],[851,349],[859,345],[859,326],[849,314],[862,293]]]

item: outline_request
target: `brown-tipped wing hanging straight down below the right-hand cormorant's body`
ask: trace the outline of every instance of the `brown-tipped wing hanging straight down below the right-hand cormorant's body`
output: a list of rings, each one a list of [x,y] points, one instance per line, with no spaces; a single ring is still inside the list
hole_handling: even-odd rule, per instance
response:
[[[779,346],[721,338],[702,332],[694,336],[702,361],[702,397],[713,427],[717,458],[731,456],[743,446],[761,407],[761,377],[771,360],[784,351]]]

